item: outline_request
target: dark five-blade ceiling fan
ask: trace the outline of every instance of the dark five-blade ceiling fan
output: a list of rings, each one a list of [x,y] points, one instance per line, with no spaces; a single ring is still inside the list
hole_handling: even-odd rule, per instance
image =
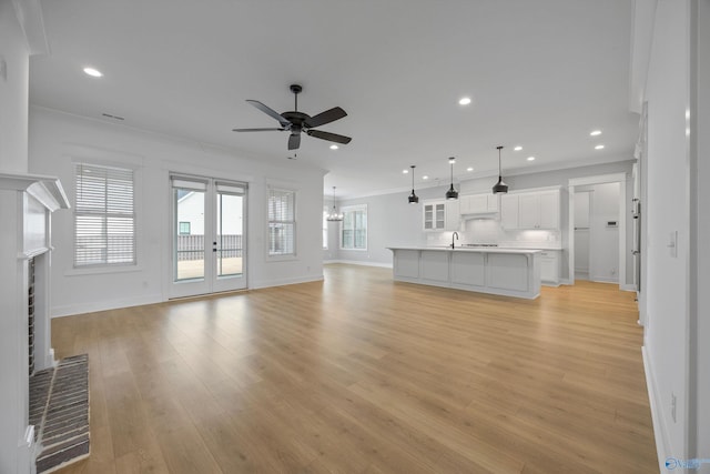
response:
[[[334,122],[347,113],[339,107],[321,112],[317,115],[311,117],[307,113],[298,112],[298,93],[303,88],[298,84],[291,84],[291,92],[294,93],[295,105],[291,112],[278,113],[275,110],[264,105],[257,100],[247,100],[248,103],[264,112],[265,114],[276,119],[280,128],[276,129],[232,129],[234,132],[268,132],[268,131],[287,131],[291,132],[288,137],[288,150],[297,150],[301,147],[301,132],[306,132],[311,137],[316,139],[327,140],[335,143],[347,144],[352,138],[338,135],[337,133],[324,132],[322,130],[313,130],[316,127],[325,125],[326,123]]]

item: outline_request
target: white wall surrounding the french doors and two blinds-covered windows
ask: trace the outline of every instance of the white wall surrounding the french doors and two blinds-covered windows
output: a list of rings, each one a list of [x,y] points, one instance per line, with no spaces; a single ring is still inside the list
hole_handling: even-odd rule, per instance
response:
[[[30,169],[57,175],[74,199],[72,160],[122,163],[136,169],[138,258],[133,271],[89,273],[72,269],[73,218],[53,221],[53,315],[77,314],[164,301],[169,294],[170,183],[179,172],[248,182],[248,288],[313,281],[323,278],[321,219],[323,171],[291,160],[245,158],[176,138],[114,125],[32,107]],[[297,256],[267,259],[266,183],[294,189]]]

